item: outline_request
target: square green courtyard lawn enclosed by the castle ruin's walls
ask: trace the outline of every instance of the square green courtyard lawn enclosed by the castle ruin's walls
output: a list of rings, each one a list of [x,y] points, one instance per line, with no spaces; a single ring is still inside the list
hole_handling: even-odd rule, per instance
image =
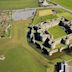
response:
[[[48,32],[53,35],[54,39],[67,35],[60,26],[54,26],[48,29]]]

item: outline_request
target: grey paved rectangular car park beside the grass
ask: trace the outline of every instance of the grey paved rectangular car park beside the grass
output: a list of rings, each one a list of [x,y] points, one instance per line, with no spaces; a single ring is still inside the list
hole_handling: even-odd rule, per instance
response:
[[[16,20],[26,20],[32,18],[35,15],[36,9],[18,9],[12,10],[12,19]]]

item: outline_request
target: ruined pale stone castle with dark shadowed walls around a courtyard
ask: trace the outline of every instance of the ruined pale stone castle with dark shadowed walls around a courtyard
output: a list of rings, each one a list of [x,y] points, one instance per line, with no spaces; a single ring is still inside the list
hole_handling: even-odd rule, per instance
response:
[[[61,26],[67,33],[66,36],[54,39],[53,36],[48,32],[48,29],[56,25]],[[72,21],[65,19],[64,17],[53,19],[48,22],[42,22],[38,25],[29,26],[29,31],[27,34],[30,42],[35,44],[49,56],[56,52],[62,52],[64,49],[71,48],[72,44]],[[56,48],[58,44],[64,44],[60,48]]]

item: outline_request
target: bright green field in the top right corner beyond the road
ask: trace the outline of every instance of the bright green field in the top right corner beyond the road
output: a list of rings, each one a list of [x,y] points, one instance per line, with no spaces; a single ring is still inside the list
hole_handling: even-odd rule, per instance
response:
[[[72,0],[52,0],[52,1],[72,10]]]

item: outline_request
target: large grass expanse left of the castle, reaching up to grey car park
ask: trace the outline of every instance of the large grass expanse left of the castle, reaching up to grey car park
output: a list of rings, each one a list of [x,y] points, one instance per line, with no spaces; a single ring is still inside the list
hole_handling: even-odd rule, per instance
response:
[[[46,72],[47,61],[32,49],[26,39],[30,21],[13,22],[11,39],[0,39],[1,72]],[[43,60],[44,59],[44,60]]]

